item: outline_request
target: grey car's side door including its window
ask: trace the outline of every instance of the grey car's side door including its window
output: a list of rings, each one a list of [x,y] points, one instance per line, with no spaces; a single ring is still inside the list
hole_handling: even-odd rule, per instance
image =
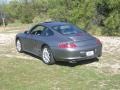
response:
[[[37,54],[37,42],[39,41],[40,43],[40,34],[44,30],[44,28],[44,26],[36,25],[29,31],[29,34],[26,36],[26,50],[28,52],[35,55]]]

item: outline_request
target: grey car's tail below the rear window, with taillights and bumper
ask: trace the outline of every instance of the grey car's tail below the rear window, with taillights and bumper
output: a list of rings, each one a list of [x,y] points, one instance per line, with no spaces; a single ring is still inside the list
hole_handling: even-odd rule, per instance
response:
[[[54,57],[59,61],[80,61],[100,57],[102,54],[101,42],[88,36],[67,36],[70,41],[59,42],[54,47]]]

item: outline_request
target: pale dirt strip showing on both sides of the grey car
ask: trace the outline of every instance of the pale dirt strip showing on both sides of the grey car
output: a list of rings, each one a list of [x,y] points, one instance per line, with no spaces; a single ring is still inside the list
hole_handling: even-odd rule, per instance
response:
[[[0,33],[0,57],[29,58],[34,57],[19,54],[15,49],[15,32]],[[98,37],[103,44],[103,54],[99,62],[86,64],[86,66],[97,68],[100,72],[118,74],[120,73],[120,37]]]

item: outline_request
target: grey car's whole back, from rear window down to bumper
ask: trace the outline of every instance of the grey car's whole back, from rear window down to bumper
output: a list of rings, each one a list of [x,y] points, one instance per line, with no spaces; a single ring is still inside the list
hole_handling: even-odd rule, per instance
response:
[[[80,61],[101,56],[101,42],[78,27],[63,24],[54,26],[53,29],[59,33],[57,37],[62,38],[56,47],[52,47],[56,60]]]

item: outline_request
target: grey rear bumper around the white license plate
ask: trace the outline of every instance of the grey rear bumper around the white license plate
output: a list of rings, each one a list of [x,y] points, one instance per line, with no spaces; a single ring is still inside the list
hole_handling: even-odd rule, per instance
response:
[[[87,56],[86,52],[88,51],[93,51],[94,55]],[[59,49],[58,47],[53,47],[52,52],[56,61],[81,61],[100,57],[102,55],[102,45],[84,46],[76,49]]]

